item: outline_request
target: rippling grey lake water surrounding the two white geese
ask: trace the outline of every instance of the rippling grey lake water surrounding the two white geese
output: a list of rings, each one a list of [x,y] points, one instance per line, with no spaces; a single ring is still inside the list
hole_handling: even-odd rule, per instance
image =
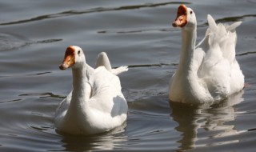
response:
[[[237,58],[246,88],[222,103],[170,103],[181,31],[171,27],[181,3],[194,9],[198,41],[206,14],[242,21]],[[101,0],[0,2],[0,151],[254,151],[256,146],[256,1]],[[124,130],[89,137],[55,131],[58,103],[71,90],[71,71],[58,70],[67,46],[78,45],[94,66],[105,51],[121,74],[129,104]]]

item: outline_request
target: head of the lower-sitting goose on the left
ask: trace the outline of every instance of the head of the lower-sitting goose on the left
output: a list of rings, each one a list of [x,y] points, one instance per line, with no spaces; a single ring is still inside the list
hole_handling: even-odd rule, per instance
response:
[[[67,68],[79,68],[86,62],[85,55],[79,46],[68,46],[61,65],[60,70],[66,70]]]

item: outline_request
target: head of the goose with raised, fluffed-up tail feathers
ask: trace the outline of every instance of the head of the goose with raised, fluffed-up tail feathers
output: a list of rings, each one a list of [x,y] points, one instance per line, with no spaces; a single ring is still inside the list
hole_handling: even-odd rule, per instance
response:
[[[184,30],[194,30],[197,26],[197,19],[194,11],[185,5],[181,5],[177,10],[177,17],[173,22],[174,27],[181,27]]]

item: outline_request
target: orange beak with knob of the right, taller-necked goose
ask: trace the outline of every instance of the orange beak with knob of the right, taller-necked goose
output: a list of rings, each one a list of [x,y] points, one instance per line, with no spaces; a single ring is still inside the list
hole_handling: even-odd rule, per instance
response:
[[[186,23],[187,23],[187,13],[186,13],[186,10],[187,10],[187,8],[183,4],[178,7],[177,17],[176,17],[175,21],[173,22],[173,26],[174,27],[186,26]]]

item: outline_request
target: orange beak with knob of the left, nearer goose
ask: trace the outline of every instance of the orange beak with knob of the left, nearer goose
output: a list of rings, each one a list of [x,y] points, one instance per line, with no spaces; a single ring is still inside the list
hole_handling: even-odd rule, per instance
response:
[[[66,53],[61,65],[59,65],[60,70],[66,70],[67,68],[71,67],[75,63],[75,55],[74,55],[74,48],[72,46],[68,46],[66,48]]]

